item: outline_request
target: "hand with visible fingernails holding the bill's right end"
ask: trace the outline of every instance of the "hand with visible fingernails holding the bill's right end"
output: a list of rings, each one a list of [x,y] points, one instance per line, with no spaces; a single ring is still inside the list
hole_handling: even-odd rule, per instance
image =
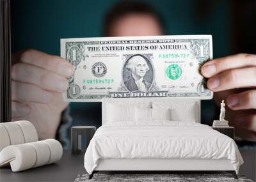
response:
[[[215,92],[216,104],[226,101],[229,107],[226,118],[236,127],[236,134],[256,141],[256,55],[236,54],[213,59],[205,63],[201,71],[209,78],[207,87]]]

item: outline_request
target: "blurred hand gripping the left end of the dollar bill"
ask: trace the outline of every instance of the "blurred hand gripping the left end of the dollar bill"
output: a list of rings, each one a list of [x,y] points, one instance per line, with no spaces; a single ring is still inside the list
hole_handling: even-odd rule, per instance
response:
[[[67,90],[72,65],[38,50],[23,52],[17,61],[12,66],[12,120],[31,121],[40,139],[54,138],[68,105],[61,93]]]

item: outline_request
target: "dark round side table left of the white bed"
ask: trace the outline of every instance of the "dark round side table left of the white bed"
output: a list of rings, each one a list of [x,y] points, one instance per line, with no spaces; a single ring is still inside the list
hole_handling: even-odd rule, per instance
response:
[[[71,128],[71,153],[79,154],[85,151],[96,131],[95,126],[72,126]],[[84,144],[84,147],[83,147]]]

